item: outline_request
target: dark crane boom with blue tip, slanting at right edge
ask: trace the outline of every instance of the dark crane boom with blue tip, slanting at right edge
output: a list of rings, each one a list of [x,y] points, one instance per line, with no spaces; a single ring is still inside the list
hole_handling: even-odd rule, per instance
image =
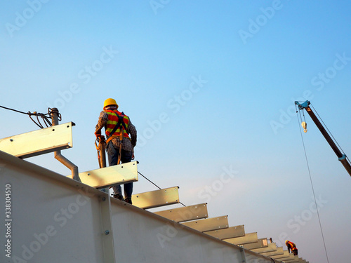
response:
[[[319,128],[320,132],[322,133],[324,138],[326,138],[326,141],[331,146],[331,149],[333,149],[333,151],[335,152],[336,156],[338,156],[339,161],[343,164],[343,166],[347,170],[347,173],[349,173],[349,175],[351,176],[351,164],[347,160],[346,154],[343,154],[343,152],[340,151],[340,149],[338,148],[336,143],[333,141],[333,139],[331,138],[329,133],[327,133],[326,129],[324,128],[322,123],[319,121],[317,116],[314,114],[314,112],[312,112],[312,109],[310,108],[311,102],[306,100],[305,102],[303,102],[303,104],[300,104],[299,102],[295,102],[295,104],[298,105],[298,109],[305,109],[307,114],[310,115],[312,121],[314,121],[314,123],[316,124],[317,128]]]

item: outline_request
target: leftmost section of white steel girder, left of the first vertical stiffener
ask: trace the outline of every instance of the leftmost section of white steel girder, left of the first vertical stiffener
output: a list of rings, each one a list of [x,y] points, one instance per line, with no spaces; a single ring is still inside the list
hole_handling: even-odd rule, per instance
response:
[[[3,156],[0,152],[0,163],[5,163],[0,196],[11,184],[11,262],[104,262],[100,207],[94,194],[100,191],[80,191],[74,184],[84,184],[44,168],[37,169],[39,174],[32,163],[13,156],[17,163],[8,163]],[[1,211],[4,205],[0,202]],[[4,228],[0,224],[1,233]]]

